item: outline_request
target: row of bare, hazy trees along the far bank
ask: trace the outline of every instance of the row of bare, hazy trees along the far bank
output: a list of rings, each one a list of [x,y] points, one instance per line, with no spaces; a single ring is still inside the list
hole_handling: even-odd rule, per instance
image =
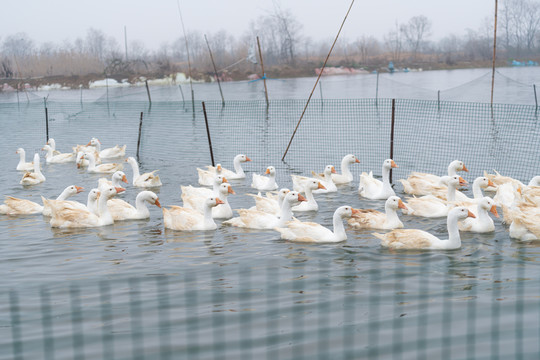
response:
[[[486,18],[478,29],[467,29],[464,36],[450,34],[431,40],[431,21],[415,16],[397,23],[383,39],[360,35],[339,39],[331,65],[366,67],[396,65],[422,66],[491,59],[493,18]],[[506,0],[499,11],[499,58],[538,57],[540,55],[540,2]],[[329,50],[329,39],[316,41],[302,33],[294,15],[275,5],[271,13],[248,24],[239,38],[226,31],[208,34],[218,68],[241,76],[258,71],[254,62],[255,39],[261,39],[265,65],[289,67],[319,66]],[[213,72],[203,34],[188,32],[189,51],[196,71]],[[248,61],[244,61],[248,60]],[[252,60],[252,61],[249,61]],[[231,66],[235,64],[234,66]],[[185,39],[179,38],[150,51],[140,41],[131,41],[125,49],[101,30],[89,29],[86,37],[61,44],[47,42],[39,46],[25,33],[0,38],[0,77],[33,77],[86,74],[156,74],[186,71]]]

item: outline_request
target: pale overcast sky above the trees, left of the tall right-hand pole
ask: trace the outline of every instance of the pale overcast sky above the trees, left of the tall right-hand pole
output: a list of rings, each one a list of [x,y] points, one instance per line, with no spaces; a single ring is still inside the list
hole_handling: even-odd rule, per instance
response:
[[[303,25],[302,33],[314,40],[334,38],[350,0],[274,0],[289,9]],[[356,0],[342,36],[354,40],[373,35],[382,40],[398,23],[424,15],[432,22],[431,40],[448,34],[478,30],[492,17],[494,0]],[[499,5],[500,6],[500,5]],[[211,34],[226,30],[242,35],[251,20],[272,11],[272,0],[180,0],[187,31]],[[177,0],[4,0],[0,41],[25,32],[41,44],[84,38],[89,28],[102,30],[124,43],[142,41],[150,50],[182,36]]]

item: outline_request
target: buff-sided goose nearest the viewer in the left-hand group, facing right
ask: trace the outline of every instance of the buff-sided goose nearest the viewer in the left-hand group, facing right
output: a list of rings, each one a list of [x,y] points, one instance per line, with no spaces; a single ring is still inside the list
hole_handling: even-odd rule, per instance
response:
[[[60,207],[52,201],[50,224],[52,227],[61,228],[87,228],[111,225],[114,223],[114,219],[109,212],[107,201],[122,191],[124,191],[123,188],[115,188],[113,186],[100,190],[101,195],[97,203],[97,213],[99,215],[94,214],[90,210]]]

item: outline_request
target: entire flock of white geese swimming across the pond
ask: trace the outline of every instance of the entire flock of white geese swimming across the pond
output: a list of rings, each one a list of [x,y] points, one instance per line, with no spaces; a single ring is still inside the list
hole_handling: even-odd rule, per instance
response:
[[[70,185],[56,199],[42,196],[42,204],[6,196],[4,204],[0,205],[0,214],[42,214],[52,227],[85,228],[149,218],[148,204],[161,208],[158,196],[149,190],[162,186],[157,170],[141,174],[137,160],[125,158],[125,145],[102,149],[101,142],[92,138],[86,145],[74,146],[72,152],[60,153],[54,139],[49,139],[42,150],[46,152],[47,164],[73,162],[79,168],[86,167],[88,173],[107,174],[110,178],[99,179],[96,188],[89,191],[86,204],[68,200],[84,190]],[[26,162],[23,148],[17,149],[16,153],[20,157],[16,170],[24,171],[21,185],[27,187],[46,181],[38,153],[34,154],[32,162]],[[508,225],[511,238],[521,241],[540,239],[540,176],[525,185],[496,171],[494,174],[484,172],[484,176],[474,180],[471,198],[460,191],[469,183],[458,175],[459,172],[468,172],[468,169],[462,161],[455,160],[449,164],[445,175],[412,172],[407,179],[400,179],[403,192],[409,195],[401,199],[396,196],[389,180],[391,169],[398,165],[394,160],[386,159],[382,163],[382,180],[375,178],[372,171],[362,172],[358,184],[358,196],[384,201],[384,212],[343,205],[335,209],[333,227],[329,229],[315,222],[299,221],[294,214],[316,212],[319,210],[317,197],[323,198],[328,196],[326,194],[340,191],[341,186],[350,186],[354,182],[350,166],[360,163],[355,155],[343,157],[341,173],[333,165],[328,165],[322,173],[312,171],[312,177],[291,175],[292,191],[278,186],[276,169],[268,166],[264,174],[252,174],[251,187],[258,190],[258,194],[245,195],[252,198],[254,205],[233,210],[228,197],[236,195],[236,192],[230,181],[246,181],[242,164],[251,161],[248,156],[239,154],[233,159],[234,170],[227,170],[221,164],[197,168],[198,184],[202,187],[180,187],[182,205],[162,208],[164,227],[178,231],[214,230],[218,227],[214,219],[222,219],[220,226],[275,230],[288,241],[335,243],[347,240],[346,222],[348,231],[385,231],[373,233],[383,247],[448,250],[461,247],[460,231],[495,231],[490,214],[499,217],[497,207],[500,207],[504,214],[503,223]],[[124,162],[131,166],[132,185],[142,189],[136,196],[135,205],[116,198],[126,191],[123,185],[129,184],[122,171]],[[495,195],[493,198],[485,196],[484,191]],[[440,239],[423,230],[406,228],[399,210],[406,216],[446,217],[448,238]]]

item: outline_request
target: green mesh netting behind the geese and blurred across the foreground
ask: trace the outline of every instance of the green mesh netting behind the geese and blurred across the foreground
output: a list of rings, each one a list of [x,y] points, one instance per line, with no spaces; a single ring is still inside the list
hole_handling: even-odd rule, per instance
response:
[[[312,100],[282,161],[304,106],[295,99],[269,106],[264,100],[206,101],[215,162],[231,167],[236,154],[247,154],[253,172],[275,166],[279,184],[328,164],[339,170],[341,158],[353,153],[361,161],[352,169],[356,181],[361,171],[380,175],[393,144],[395,184],[411,171],[443,174],[455,159],[472,178],[495,169],[528,182],[540,173],[535,106]],[[135,149],[140,130],[143,168],[210,163],[201,102],[47,101],[1,108],[0,129],[8,135],[2,151],[20,144],[38,151],[47,131],[61,151],[92,136]],[[196,173],[186,172],[184,180],[196,183]],[[489,249],[397,255],[366,245],[329,261],[295,254],[287,268],[261,261],[206,268],[203,275],[182,269],[174,276],[47,285],[39,301],[30,300],[35,289],[7,290],[0,359],[534,358],[540,353],[537,249],[516,244],[512,260],[497,242]],[[337,270],[334,263],[343,266]],[[305,282],[309,277],[319,280]]]

